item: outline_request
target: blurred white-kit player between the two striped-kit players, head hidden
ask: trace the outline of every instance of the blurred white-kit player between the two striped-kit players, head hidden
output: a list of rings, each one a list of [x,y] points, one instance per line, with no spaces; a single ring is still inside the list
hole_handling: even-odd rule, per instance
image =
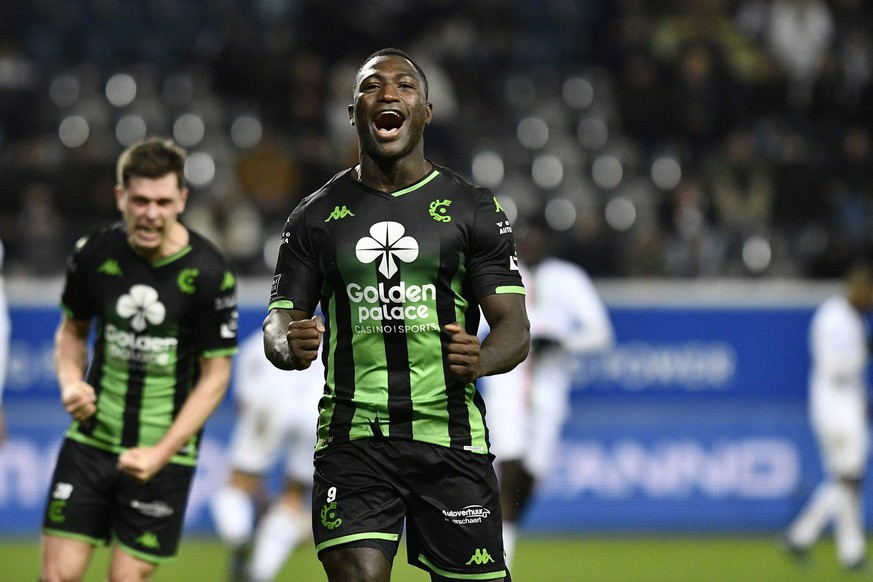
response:
[[[312,454],[323,386],[320,359],[304,371],[273,366],[264,356],[260,329],[240,347],[234,364],[239,412],[228,450],[231,472],[211,501],[218,536],[234,553],[233,580],[273,580],[294,548],[311,537]],[[283,491],[265,500],[268,473],[280,460]]]

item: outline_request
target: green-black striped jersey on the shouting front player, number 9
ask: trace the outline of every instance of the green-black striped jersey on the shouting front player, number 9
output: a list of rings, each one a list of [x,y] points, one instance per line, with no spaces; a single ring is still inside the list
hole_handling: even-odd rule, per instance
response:
[[[382,435],[488,452],[485,407],[449,371],[448,335],[479,300],[523,294],[494,195],[440,166],[393,193],[337,174],[285,225],[270,308],[321,304],[325,396],[317,450]]]

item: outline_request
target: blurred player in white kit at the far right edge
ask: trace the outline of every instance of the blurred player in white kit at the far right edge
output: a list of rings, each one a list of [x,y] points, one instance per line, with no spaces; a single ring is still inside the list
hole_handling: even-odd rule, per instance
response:
[[[867,363],[873,309],[873,270],[853,267],[845,294],[816,310],[809,332],[812,370],[809,414],[825,473],[786,534],[787,548],[802,555],[833,522],[840,564],[858,568],[865,558],[862,479],[867,469]]]

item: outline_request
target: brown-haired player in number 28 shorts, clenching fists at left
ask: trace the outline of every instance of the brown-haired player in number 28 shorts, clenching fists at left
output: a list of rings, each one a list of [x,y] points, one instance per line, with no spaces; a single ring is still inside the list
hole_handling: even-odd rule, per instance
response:
[[[43,582],[81,580],[96,545],[113,544],[110,580],[147,580],[176,554],[237,349],[233,270],[178,220],[184,166],[168,140],[125,150],[123,221],[81,239],[67,264],[55,366],[73,422],[43,517]]]

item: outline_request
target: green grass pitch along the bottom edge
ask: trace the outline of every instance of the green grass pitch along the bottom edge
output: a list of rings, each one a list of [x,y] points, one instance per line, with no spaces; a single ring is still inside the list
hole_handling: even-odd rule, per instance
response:
[[[402,544],[401,544],[402,548]],[[108,558],[98,549],[85,582],[104,579]],[[227,553],[211,537],[188,536],[178,558],[162,566],[154,582],[224,582]],[[0,538],[0,582],[34,582],[39,569],[36,541]],[[278,579],[325,580],[311,546],[299,548]],[[406,564],[401,549],[393,582],[427,582],[428,576]],[[784,555],[775,536],[584,536],[523,537],[513,568],[515,582],[836,582],[873,580],[873,570],[844,573],[832,541],[819,543],[809,560],[798,564]]]

